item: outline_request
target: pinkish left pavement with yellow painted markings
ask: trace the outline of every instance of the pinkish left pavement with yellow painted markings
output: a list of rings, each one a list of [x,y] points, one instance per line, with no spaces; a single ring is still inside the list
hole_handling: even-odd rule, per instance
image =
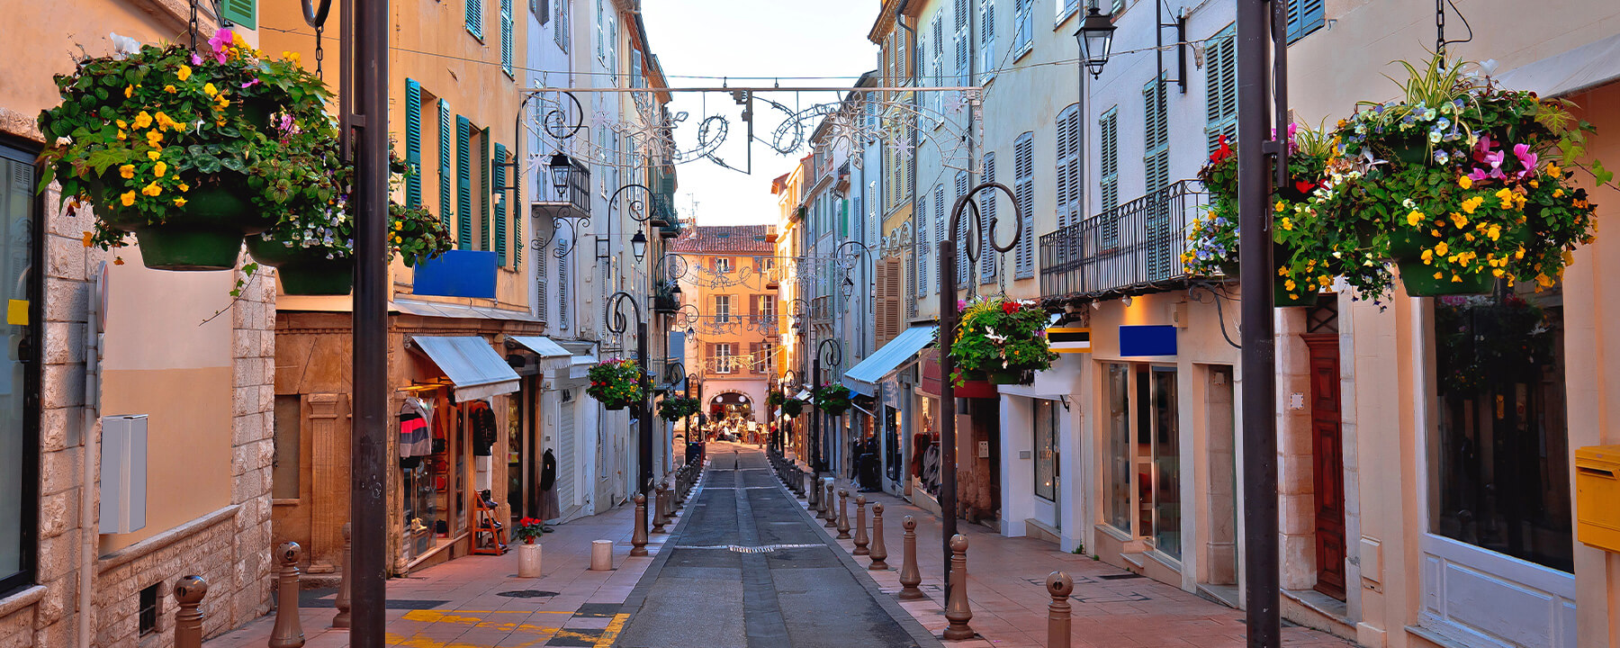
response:
[[[688,509],[690,510],[690,509]],[[387,646],[496,648],[611,645],[627,619],[625,598],[667,535],[650,538],[645,557],[630,557],[633,507],[556,525],[541,538],[539,578],[517,577],[517,551],[463,556],[387,582]],[[614,570],[591,572],[593,539],[614,541]],[[348,646],[348,630],[332,629],[335,590],[308,590],[300,603],[306,648]],[[202,601],[207,611],[209,601]],[[262,648],[275,612],[204,643],[206,648]]]

